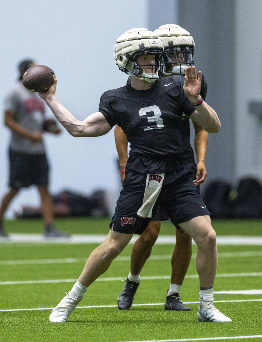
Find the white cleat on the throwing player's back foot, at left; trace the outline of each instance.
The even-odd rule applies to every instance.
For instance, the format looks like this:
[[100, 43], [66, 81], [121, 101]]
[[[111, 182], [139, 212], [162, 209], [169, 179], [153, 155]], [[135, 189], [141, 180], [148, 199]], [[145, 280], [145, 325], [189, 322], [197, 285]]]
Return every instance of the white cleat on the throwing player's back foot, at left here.
[[83, 297], [70, 297], [67, 294], [49, 315], [50, 322], [66, 322], [67, 318]]

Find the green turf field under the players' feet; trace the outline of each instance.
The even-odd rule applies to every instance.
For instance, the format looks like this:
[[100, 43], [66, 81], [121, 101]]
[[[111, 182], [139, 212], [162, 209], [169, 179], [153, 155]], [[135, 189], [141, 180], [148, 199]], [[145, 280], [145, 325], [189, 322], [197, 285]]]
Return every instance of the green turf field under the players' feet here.
[[[74, 234], [106, 234], [108, 223], [107, 219], [86, 218], [56, 222], [57, 227]], [[261, 220], [213, 221], [213, 227], [218, 236], [262, 236]], [[42, 223], [40, 220], [6, 221], [5, 228], [9, 233], [41, 233]], [[163, 223], [161, 234], [174, 234], [169, 222]], [[51, 308], [64, 297], [63, 291], [71, 289], [84, 260], [96, 246], [0, 243], [0, 341], [214, 341], [222, 337], [238, 337], [233, 341], [262, 341], [260, 245], [218, 246], [214, 291], [260, 290], [260, 294], [214, 294], [215, 305], [232, 323], [197, 322], [199, 285], [195, 245], [180, 293], [192, 311], [163, 310], [170, 284], [173, 245], [154, 246], [152, 257], [142, 270], [133, 306], [127, 311], [118, 310], [116, 300], [123, 287], [120, 279], [129, 273], [132, 245], [128, 245], [108, 271], [90, 286], [68, 321], [50, 323]]]

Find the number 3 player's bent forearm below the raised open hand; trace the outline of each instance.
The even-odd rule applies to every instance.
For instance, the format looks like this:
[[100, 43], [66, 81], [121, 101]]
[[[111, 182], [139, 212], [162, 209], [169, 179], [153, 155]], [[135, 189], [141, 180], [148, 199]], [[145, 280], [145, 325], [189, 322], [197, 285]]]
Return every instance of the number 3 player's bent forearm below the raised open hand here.
[[200, 106], [196, 107], [195, 112], [190, 116], [199, 126], [208, 133], [217, 133], [220, 130], [220, 121], [217, 113], [204, 100]]

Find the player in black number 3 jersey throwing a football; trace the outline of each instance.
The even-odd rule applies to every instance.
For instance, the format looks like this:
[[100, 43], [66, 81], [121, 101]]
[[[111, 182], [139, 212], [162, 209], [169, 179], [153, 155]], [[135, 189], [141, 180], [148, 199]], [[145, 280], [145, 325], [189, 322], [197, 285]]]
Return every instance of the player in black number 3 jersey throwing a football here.
[[220, 121], [199, 95], [201, 71], [197, 78], [193, 66], [186, 68], [185, 80], [180, 75], [161, 79], [162, 55], [162, 41], [145, 28], [134, 28], [121, 35], [114, 45], [114, 58], [119, 69], [132, 76], [131, 85], [106, 91], [101, 96], [99, 111], [83, 121], [58, 101], [55, 76], [49, 90], [39, 93], [71, 135], [100, 136], [118, 124], [131, 146], [125, 183], [109, 233], [91, 253], [73, 288], [51, 312], [51, 322], [67, 320], [88, 286], [108, 269], [133, 234], [143, 233], [159, 205], [174, 225], [179, 224], [196, 241], [198, 320], [231, 321], [213, 305], [216, 234], [210, 213], [191, 181], [191, 168], [184, 166], [181, 141], [183, 113], [209, 133], [219, 131]]

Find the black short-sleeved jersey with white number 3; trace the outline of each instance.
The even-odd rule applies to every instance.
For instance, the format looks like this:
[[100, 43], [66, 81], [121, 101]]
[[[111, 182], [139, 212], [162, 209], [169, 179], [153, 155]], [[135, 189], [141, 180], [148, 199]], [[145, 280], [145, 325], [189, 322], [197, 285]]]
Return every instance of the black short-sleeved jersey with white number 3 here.
[[196, 109], [183, 90], [184, 77], [160, 78], [147, 90], [130, 85], [106, 91], [99, 111], [111, 127], [122, 128], [130, 142], [127, 168], [162, 173], [184, 165], [182, 115]]

